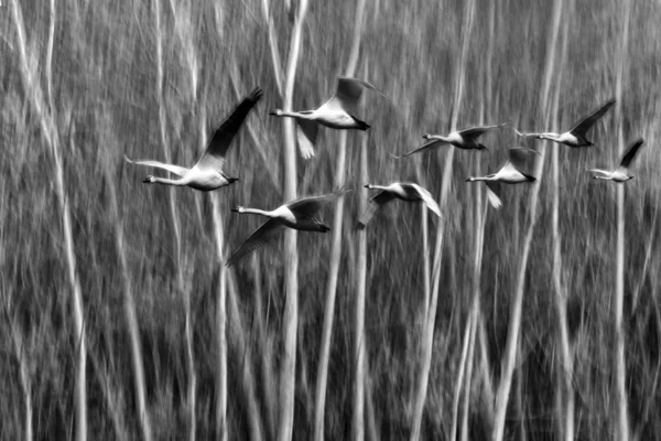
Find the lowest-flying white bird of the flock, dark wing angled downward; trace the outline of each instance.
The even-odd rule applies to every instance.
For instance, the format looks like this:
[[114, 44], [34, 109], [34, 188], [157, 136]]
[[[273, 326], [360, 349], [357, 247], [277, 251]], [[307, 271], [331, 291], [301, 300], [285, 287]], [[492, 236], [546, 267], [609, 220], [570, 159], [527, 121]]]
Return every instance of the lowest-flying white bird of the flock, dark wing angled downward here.
[[243, 208], [242, 206], [232, 208], [231, 211], [236, 213], [260, 214], [269, 217], [269, 220], [263, 223], [254, 230], [254, 233], [243, 240], [225, 265], [228, 267], [232, 266], [245, 256], [273, 240], [284, 228], [321, 233], [330, 230], [330, 228], [317, 219], [315, 215], [324, 205], [335, 201], [344, 193], [346, 192], [337, 191], [321, 196], [303, 197], [289, 202], [272, 211]]

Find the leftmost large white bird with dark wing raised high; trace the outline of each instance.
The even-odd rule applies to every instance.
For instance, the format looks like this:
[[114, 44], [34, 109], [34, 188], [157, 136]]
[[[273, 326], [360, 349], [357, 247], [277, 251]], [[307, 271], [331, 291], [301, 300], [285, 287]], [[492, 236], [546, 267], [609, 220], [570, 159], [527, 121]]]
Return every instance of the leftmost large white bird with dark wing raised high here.
[[225, 154], [231, 143], [232, 138], [243, 123], [243, 120], [254, 107], [257, 101], [262, 97], [262, 90], [256, 87], [237, 106], [232, 114], [218, 127], [214, 137], [209, 141], [206, 151], [193, 169], [186, 169], [180, 165], [165, 164], [159, 161], [141, 160], [131, 161], [124, 155], [124, 159], [131, 164], [154, 166], [158, 169], [167, 170], [171, 173], [181, 176], [178, 180], [165, 178], [156, 178], [149, 175], [144, 179], [148, 184], [165, 184], [176, 186], [189, 186], [195, 190], [205, 192], [220, 189], [221, 186], [230, 185], [238, 181], [238, 178], [229, 178], [223, 172], [225, 164]]

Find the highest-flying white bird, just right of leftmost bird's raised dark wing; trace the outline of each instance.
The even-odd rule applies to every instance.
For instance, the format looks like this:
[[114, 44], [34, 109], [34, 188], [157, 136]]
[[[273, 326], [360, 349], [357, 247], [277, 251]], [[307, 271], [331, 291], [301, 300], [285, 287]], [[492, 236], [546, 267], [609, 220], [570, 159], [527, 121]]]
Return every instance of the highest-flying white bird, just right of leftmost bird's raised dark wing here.
[[304, 159], [310, 159], [314, 157], [314, 144], [317, 138], [318, 125], [339, 130], [369, 129], [370, 126], [367, 122], [356, 117], [356, 107], [358, 106], [360, 95], [362, 95], [362, 89], [381, 93], [377, 87], [362, 79], [340, 76], [337, 79], [335, 95], [318, 109], [302, 111], [275, 109], [270, 115], [290, 117], [297, 120], [296, 139], [299, 141], [299, 149]]

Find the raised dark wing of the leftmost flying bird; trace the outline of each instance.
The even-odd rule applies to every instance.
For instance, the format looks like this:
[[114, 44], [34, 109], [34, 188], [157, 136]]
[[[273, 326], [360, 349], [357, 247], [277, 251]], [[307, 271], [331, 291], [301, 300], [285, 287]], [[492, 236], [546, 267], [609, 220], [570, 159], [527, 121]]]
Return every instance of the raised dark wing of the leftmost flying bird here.
[[201, 169], [223, 169], [225, 162], [225, 153], [229, 149], [229, 144], [243, 123], [243, 120], [254, 107], [257, 101], [262, 97], [262, 89], [256, 87], [237, 106], [231, 115], [216, 129], [206, 151], [197, 162]]

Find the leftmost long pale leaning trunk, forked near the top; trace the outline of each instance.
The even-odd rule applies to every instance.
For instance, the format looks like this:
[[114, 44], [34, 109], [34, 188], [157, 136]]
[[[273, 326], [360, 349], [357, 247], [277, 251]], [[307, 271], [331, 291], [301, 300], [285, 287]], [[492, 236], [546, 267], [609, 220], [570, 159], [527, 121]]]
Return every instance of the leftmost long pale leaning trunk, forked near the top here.
[[[46, 54], [46, 87], [47, 103], [44, 100], [43, 90], [39, 84], [36, 63], [29, 62], [26, 53], [28, 45], [25, 40], [25, 28], [23, 15], [19, 9], [17, 0], [12, 0], [12, 19], [17, 28], [17, 45], [20, 58], [21, 80], [25, 90], [25, 98], [32, 101], [34, 112], [39, 118], [42, 135], [51, 150], [54, 168], [54, 187], [57, 196], [59, 217], [62, 222], [62, 233], [64, 235], [65, 261], [67, 267], [68, 283], [72, 293], [73, 315], [74, 315], [74, 345], [76, 347], [76, 387], [75, 387], [75, 433], [77, 441], [87, 439], [87, 343], [85, 338], [85, 319], [83, 308], [83, 290], [78, 278], [76, 263], [76, 252], [74, 245], [74, 235], [72, 228], [72, 215], [68, 195], [64, 186], [64, 165], [62, 160], [62, 149], [59, 135], [55, 122], [53, 97], [52, 97], [52, 53], [55, 36], [55, 4], [51, 0], [50, 10], [50, 30]], [[35, 47], [35, 46], [32, 46]], [[30, 60], [39, 60], [36, 54], [30, 54]]]

